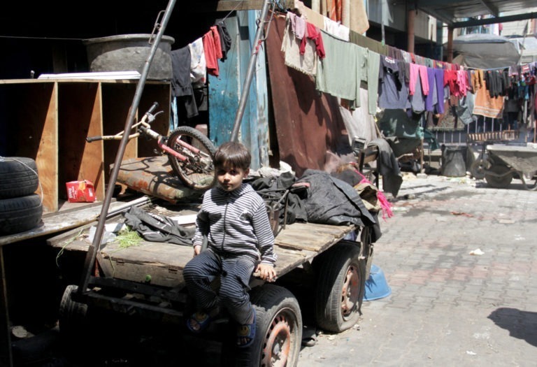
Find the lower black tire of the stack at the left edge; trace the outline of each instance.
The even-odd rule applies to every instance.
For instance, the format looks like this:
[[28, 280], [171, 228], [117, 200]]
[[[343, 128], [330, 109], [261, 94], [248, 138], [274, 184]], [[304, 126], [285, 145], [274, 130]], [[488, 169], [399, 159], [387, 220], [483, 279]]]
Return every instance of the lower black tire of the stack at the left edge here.
[[38, 226], [43, 203], [37, 194], [0, 199], [0, 234], [19, 233]]

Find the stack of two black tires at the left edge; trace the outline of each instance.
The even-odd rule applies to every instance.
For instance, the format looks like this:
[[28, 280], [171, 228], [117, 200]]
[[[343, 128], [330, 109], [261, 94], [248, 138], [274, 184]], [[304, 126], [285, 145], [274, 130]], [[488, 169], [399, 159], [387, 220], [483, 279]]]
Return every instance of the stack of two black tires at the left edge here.
[[38, 185], [34, 159], [0, 157], [0, 236], [28, 231], [40, 224], [43, 202], [35, 194]]

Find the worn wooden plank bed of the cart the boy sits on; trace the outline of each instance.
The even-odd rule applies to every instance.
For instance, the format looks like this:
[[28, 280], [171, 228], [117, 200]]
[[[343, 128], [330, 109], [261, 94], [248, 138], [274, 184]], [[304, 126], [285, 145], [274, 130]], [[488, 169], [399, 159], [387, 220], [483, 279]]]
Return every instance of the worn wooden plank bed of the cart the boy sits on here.
[[[83, 233], [80, 229], [74, 229], [47, 242], [64, 251], [87, 251], [92, 245], [87, 236], [89, 227], [90, 225], [87, 225]], [[355, 226], [313, 223], [287, 225], [275, 241], [278, 276], [285, 275], [297, 266], [311, 261], [353, 229]], [[193, 254], [190, 246], [143, 240], [139, 245], [127, 248], [120, 247], [118, 243], [107, 243], [101, 247], [98, 260], [103, 275], [151, 285], [182, 288], [184, 287], [182, 269], [192, 259]]]

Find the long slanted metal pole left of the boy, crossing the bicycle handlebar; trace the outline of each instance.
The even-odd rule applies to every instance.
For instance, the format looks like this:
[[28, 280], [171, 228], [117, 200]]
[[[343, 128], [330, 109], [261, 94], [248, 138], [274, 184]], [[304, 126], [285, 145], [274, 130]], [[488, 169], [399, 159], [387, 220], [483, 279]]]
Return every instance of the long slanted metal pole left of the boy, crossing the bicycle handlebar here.
[[[162, 23], [158, 24], [157, 23], [158, 19], [157, 19], [157, 22], [155, 22], [155, 28], [158, 28], [157, 36], [155, 36], [155, 39], [152, 41], [148, 58], [145, 60], [142, 73], [140, 75], [140, 80], [138, 81], [138, 85], [136, 85], [136, 92], [134, 92], [134, 98], [131, 104], [131, 108], [129, 110], [129, 116], [127, 117], [127, 121], [125, 122], [125, 127], [124, 127], [125, 134], [123, 134], [123, 138], [121, 139], [121, 142], [120, 142], [120, 147], [118, 148], [117, 154], [115, 155], [114, 166], [112, 168], [112, 172], [110, 173], [110, 179], [108, 180], [108, 190], [106, 190], [106, 195], [103, 201], [103, 206], [101, 208], [101, 215], [99, 216], [99, 222], [97, 222], [95, 236], [93, 238], [93, 243], [92, 243], [92, 246], [90, 246], [87, 250], [86, 259], [84, 263], [85, 274], [83, 275], [83, 278], [80, 280], [80, 287], [78, 287], [79, 294], [81, 294], [82, 292], [85, 292], [85, 289], [87, 289], [87, 285], [89, 284], [91, 273], [94, 270], [96, 256], [97, 256], [97, 253], [99, 252], [99, 247], [101, 246], [101, 240], [103, 237], [103, 228], [106, 222], [108, 208], [110, 207], [110, 202], [112, 201], [112, 196], [114, 192], [113, 188], [115, 187], [117, 174], [120, 171], [120, 165], [121, 165], [121, 161], [123, 160], [123, 154], [125, 152], [125, 148], [127, 147], [127, 143], [129, 143], [129, 131], [131, 131], [131, 127], [134, 122], [134, 117], [136, 116], [136, 110], [138, 109], [138, 104], [140, 103], [141, 95], [143, 92], [143, 87], [145, 86], [145, 80], [147, 80], [148, 78], [148, 73], [149, 73], [149, 68], [151, 66], [151, 62], [153, 60], [153, 57], [155, 57], [155, 52], [157, 52], [157, 48], [159, 47], [160, 40], [162, 38], [162, 35], [164, 34], [164, 30], [166, 29], [166, 24], [168, 24], [168, 21], [171, 17], [171, 12], [173, 10], [173, 6], [175, 5], [175, 3], [176, 3], [176, 0], [170, 0], [168, 3], [168, 6], [166, 7], [166, 11], [164, 12]], [[160, 16], [160, 13], [159, 13], [159, 16]]]

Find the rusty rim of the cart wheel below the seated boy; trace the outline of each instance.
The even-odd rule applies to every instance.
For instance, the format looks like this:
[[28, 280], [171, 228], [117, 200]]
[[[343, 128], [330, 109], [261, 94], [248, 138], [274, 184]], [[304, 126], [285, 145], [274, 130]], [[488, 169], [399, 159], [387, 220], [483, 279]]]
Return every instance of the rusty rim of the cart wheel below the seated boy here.
[[282, 310], [271, 322], [263, 343], [261, 366], [283, 367], [291, 350], [292, 315]]

